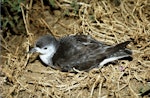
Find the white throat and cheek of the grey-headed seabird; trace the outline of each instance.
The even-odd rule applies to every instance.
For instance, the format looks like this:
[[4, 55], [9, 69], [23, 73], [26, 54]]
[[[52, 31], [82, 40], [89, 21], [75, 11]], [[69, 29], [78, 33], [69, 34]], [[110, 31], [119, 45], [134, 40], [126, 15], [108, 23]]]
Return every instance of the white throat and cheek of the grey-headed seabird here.
[[55, 46], [54, 45], [50, 45], [46, 54], [39, 55], [40, 59], [46, 65], [52, 66], [53, 65], [52, 57], [54, 56], [55, 52], [56, 52]]

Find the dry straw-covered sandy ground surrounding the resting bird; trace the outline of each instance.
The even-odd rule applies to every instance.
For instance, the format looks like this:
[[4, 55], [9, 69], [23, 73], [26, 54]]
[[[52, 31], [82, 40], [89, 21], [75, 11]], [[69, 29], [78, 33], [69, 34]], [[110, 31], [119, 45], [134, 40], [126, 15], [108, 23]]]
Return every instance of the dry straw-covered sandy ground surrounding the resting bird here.
[[[120, 1], [120, 4], [117, 3]], [[74, 4], [74, 5], [72, 5]], [[27, 34], [1, 37], [0, 96], [5, 98], [139, 98], [150, 91], [149, 0], [43, 0], [21, 4]], [[133, 60], [89, 72], [66, 73], [45, 67], [29, 46], [44, 34], [56, 38], [91, 35], [107, 44], [133, 40]], [[32, 60], [33, 59], [33, 60]]]

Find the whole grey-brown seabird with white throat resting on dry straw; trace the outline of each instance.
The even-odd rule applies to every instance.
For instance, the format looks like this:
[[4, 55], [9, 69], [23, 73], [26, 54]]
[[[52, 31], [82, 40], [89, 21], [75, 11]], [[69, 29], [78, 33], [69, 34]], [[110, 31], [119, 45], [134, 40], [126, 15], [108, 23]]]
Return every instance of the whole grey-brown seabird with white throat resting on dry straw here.
[[88, 71], [92, 68], [131, 57], [126, 46], [130, 41], [106, 45], [86, 35], [71, 35], [59, 40], [51, 35], [40, 37], [29, 53], [39, 52], [43, 63], [54, 69], [72, 72], [73, 69]]

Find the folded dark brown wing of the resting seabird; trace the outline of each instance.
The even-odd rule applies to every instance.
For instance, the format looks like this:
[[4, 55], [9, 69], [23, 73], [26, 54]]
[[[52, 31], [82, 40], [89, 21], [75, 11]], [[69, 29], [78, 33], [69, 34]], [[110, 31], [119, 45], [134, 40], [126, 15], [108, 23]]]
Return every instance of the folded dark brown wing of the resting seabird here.
[[104, 45], [89, 36], [76, 35], [60, 40], [60, 46], [53, 57], [53, 65], [62, 71], [90, 69], [105, 59]]

